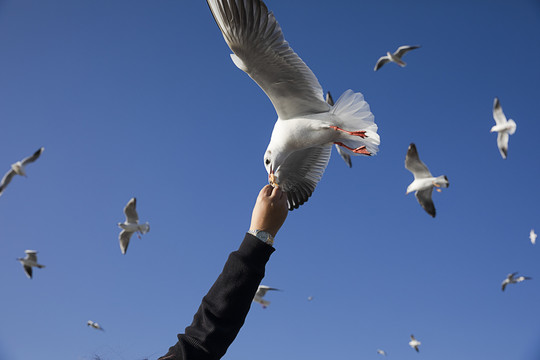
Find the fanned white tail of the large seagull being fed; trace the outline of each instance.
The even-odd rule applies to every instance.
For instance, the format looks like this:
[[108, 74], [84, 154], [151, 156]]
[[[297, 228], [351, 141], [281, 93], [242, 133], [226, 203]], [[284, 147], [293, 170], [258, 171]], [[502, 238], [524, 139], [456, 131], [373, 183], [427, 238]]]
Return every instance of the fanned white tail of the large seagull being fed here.
[[369, 109], [369, 104], [364, 100], [362, 93], [355, 93], [352, 90], [345, 91], [336, 101], [331, 112], [338, 117], [337, 125], [340, 128], [349, 131], [366, 132], [365, 138], [340, 132], [338, 141], [353, 148], [365, 146], [372, 155], [379, 151], [381, 139], [377, 134], [378, 127], [375, 124], [375, 117]]

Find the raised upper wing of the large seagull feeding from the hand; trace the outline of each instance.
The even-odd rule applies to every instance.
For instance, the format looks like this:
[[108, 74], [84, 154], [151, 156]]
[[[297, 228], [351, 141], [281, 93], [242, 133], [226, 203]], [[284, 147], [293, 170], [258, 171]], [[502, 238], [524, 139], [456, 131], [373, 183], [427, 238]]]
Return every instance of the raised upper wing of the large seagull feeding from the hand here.
[[326, 112], [319, 81], [285, 41], [261, 0], [207, 0], [235, 65], [268, 95], [280, 119]]

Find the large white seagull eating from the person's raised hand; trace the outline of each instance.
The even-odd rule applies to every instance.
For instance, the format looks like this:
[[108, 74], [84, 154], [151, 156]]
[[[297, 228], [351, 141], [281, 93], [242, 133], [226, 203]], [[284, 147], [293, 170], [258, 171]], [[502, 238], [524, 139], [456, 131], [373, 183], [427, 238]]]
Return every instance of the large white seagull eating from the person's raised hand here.
[[284, 39], [261, 0], [207, 0], [232, 61], [266, 93], [278, 119], [264, 165], [269, 183], [287, 193], [289, 210], [308, 201], [330, 159], [332, 144], [373, 155], [377, 125], [361, 93], [347, 90], [334, 106], [319, 81]]

